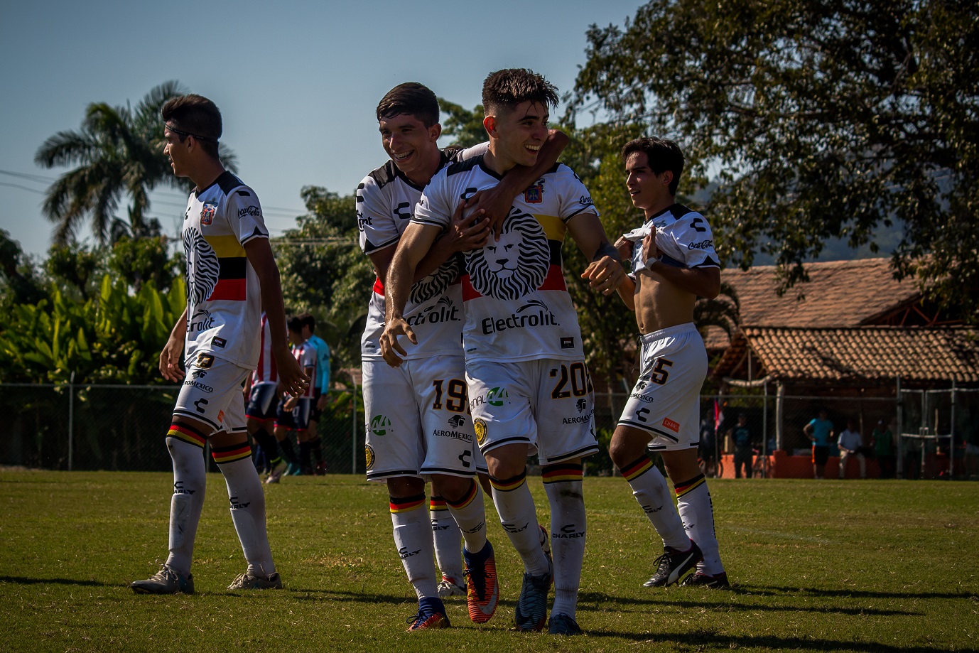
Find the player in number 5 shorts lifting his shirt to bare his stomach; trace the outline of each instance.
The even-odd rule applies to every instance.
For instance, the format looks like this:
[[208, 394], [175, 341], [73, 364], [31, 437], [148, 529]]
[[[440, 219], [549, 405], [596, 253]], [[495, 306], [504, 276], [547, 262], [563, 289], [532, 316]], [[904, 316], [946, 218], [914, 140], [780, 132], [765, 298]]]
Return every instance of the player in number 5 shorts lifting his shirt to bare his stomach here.
[[[610, 257], [592, 263], [582, 275], [606, 295], [618, 291], [635, 311], [642, 334], [641, 371], [609, 454], [663, 538], [664, 553], [646, 586], [676, 583], [696, 566], [683, 584], [722, 587], [728, 583], [714, 534], [711, 494], [697, 463], [707, 351], [693, 324], [697, 297], [718, 296], [721, 268], [707, 220], [676, 204], [683, 171], [676, 143], [636, 139], [626, 144], [622, 157], [632, 205], [645, 214], [642, 227], [616, 242], [620, 254], [631, 257], [632, 271], [617, 283], [621, 263]], [[646, 454], [647, 445], [663, 456], [678, 512], [663, 475]]]

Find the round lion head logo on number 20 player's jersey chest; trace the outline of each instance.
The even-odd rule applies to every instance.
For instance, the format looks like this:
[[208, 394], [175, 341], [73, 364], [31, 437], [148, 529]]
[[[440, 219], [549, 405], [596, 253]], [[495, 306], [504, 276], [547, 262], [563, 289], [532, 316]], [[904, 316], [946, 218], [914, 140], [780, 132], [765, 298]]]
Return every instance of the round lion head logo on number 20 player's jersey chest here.
[[469, 281], [480, 295], [514, 301], [536, 291], [547, 276], [550, 247], [530, 213], [513, 210], [498, 241], [466, 253]]

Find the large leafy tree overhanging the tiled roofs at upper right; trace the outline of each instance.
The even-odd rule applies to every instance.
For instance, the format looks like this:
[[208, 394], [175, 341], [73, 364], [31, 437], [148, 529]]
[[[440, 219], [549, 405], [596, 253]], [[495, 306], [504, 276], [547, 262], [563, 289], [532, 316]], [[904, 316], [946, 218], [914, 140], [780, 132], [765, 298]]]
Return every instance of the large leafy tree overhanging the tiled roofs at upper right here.
[[877, 251], [897, 224], [896, 275], [979, 319], [974, 6], [653, 0], [587, 39], [572, 116], [602, 109], [676, 138], [695, 172], [720, 166], [725, 259], [769, 254], [784, 288], [828, 239]]

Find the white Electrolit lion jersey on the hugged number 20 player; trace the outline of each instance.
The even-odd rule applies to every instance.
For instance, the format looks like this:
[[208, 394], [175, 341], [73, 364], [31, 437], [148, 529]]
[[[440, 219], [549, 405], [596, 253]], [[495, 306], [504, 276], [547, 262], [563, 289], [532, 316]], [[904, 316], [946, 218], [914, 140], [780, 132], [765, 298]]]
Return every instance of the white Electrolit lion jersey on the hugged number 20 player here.
[[[446, 227], [460, 198], [495, 186], [484, 157], [443, 168], [425, 188], [413, 221]], [[578, 313], [564, 284], [567, 222], [597, 213], [574, 171], [557, 163], [513, 202], [499, 241], [467, 252], [462, 276], [466, 360], [584, 357]]]

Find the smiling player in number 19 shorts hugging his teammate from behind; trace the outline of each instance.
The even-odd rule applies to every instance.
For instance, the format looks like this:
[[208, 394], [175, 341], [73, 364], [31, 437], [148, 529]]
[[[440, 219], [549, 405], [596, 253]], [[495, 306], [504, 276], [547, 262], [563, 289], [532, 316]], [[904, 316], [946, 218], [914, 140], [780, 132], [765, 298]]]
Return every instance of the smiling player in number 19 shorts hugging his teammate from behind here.
[[[522, 168], [502, 180], [493, 179], [495, 188], [483, 195], [483, 208], [474, 208], [478, 219], [435, 230], [422, 253], [424, 260], [407, 279], [410, 303], [404, 314], [418, 338], [405, 364], [393, 369], [382, 359], [379, 344], [386, 300], [382, 279], [422, 189], [436, 172], [464, 154], [439, 149], [439, 103], [422, 84], [403, 83], [389, 91], [377, 106], [377, 119], [391, 160], [364, 177], [356, 192], [360, 247], [377, 270], [361, 341], [367, 479], [388, 486], [396, 547], [418, 596], [418, 613], [409, 630], [448, 626], [441, 596], [463, 588], [470, 619], [484, 623], [495, 612], [498, 589], [493, 550], [486, 537], [483, 492], [474, 481], [478, 469], [485, 471], [485, 462], [474, 450], [466, 396], [456, 255], [487, 241], [493, 219], [506, 216], [513, 197], [539, 171]], [[566, 137], [552, 135], [552, 140], [557, 139]], [[563, 144], [553, 147], [549, 164], [561, 149]], [[436, 513], [439, 549], [435, 552], [443, 570], [442, 583], [437, 583], [433, 530], [425, 511], [426, 477], [432, 481], [430, 507]], [[446, 511], [440, 510], [443, 506]], [[444, 512], [450, 513], [457, 527], [439, 516]], [[464, 574], [458, 563], [458, 530], [465, 539]]]

